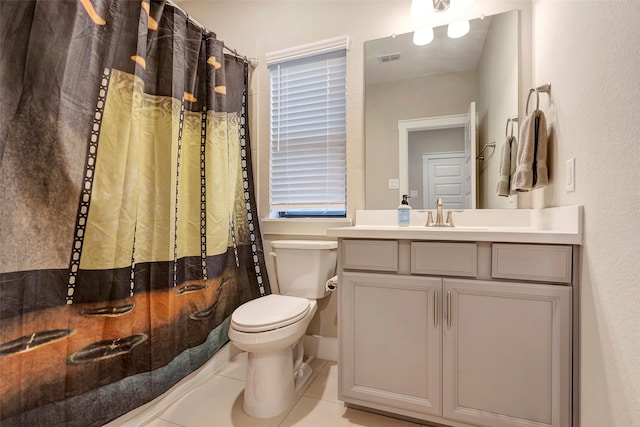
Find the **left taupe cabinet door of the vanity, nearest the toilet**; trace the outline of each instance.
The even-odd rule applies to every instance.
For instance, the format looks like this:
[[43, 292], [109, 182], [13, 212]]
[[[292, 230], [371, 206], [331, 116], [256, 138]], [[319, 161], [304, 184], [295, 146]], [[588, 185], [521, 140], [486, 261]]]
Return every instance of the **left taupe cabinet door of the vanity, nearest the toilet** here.
[[342, 274], [341, 399], [441, 413], [441, 289], [440, 278]]

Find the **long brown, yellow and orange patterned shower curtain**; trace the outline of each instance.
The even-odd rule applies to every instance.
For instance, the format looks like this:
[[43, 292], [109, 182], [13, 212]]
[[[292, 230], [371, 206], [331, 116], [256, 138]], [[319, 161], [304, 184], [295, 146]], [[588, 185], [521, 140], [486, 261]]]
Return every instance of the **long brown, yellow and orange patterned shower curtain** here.
[[0, 8], [0, 425], [99, 426], [270, 293], [248, 67], [164, 1]]

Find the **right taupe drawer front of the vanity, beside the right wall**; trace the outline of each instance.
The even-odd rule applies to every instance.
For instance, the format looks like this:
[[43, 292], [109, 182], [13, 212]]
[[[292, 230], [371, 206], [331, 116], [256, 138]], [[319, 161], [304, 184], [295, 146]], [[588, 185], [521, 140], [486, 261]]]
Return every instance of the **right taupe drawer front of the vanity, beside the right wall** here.
[[495, 243], [491, 275], [498, 279], [571, 283], [571, 246]]

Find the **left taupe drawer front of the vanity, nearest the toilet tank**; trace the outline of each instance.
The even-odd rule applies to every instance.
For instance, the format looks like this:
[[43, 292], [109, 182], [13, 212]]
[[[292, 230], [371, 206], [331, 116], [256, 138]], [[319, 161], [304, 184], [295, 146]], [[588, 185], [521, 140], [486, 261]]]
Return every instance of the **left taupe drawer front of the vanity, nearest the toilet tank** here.
[[398, 241], [345, 239], [342, 241], [342, 268], [398, 271]]

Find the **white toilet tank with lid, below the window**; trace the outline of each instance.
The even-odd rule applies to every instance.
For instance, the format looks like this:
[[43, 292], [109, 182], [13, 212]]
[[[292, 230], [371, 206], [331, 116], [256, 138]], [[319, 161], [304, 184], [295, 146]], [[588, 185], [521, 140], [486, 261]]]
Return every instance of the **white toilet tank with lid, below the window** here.
[[278, 287], [282, 295], [327, 296], [326, 282], [336, 273], [338, 244], [328, 240], [273, 240]]

